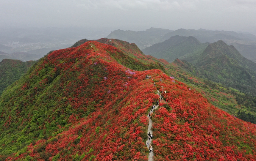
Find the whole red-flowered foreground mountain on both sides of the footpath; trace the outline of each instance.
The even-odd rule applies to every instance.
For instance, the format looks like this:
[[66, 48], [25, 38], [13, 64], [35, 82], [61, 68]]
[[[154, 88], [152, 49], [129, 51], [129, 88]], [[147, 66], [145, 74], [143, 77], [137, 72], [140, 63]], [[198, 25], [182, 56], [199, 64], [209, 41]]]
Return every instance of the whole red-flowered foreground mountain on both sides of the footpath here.
[[160, 86], [168, 103], [152, 115], [155, 160], [255, 158], [254, 124], [164, 74], [165, 61], [104, 43], [53, 51], [4, 91], [3, 160], [148, 160], [146, 116]]

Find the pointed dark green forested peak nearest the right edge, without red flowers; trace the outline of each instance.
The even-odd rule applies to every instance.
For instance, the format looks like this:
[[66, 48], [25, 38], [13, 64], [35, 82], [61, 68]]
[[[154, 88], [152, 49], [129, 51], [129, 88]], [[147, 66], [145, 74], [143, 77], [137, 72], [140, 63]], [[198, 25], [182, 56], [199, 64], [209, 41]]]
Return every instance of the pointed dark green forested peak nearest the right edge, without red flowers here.
[[199, 67], [202, 77], [256, 95], [256, 63], [223, 41], [210, 44], [192, 64]]

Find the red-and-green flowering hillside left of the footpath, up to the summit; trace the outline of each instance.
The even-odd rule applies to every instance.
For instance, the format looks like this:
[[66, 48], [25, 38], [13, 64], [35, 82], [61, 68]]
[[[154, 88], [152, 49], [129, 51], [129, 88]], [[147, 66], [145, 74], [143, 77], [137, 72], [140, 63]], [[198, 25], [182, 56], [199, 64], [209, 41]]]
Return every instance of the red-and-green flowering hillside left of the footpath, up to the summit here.
[[[77, 153], [146, 158], [146, 125], [140, 117], [157, 100], [155, 89], [143, 82], [149, 71], [118, 62], [151, 67], [95, 41], [42, 58], [1, 97], [1, 155], [11, 160], [28, 155], [47, 160], [57, 154], [71, 159]], [[116, 140], [120, 144], [113, 145]], [[104, 146], [113, 148], [110, 154], [102, 151]]]

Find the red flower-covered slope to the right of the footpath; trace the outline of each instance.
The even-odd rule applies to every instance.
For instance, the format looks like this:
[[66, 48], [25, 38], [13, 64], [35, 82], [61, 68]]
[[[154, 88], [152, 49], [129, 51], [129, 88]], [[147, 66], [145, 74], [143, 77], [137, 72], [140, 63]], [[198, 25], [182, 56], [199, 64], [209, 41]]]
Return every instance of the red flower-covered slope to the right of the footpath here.
[[184, 83], [162, 77], [157, 85], [165, 87], [167, 102], [152, 115], [156, 160], [255, 160], [255, 124], [219, 110]]

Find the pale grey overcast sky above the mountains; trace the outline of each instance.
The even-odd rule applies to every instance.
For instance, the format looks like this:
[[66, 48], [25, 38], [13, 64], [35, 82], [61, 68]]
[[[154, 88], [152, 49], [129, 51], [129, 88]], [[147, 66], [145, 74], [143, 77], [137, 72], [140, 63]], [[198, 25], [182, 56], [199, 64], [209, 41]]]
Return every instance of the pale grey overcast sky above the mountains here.
[[256, 31], [256, 0], [1, 0], [0, 25]]

